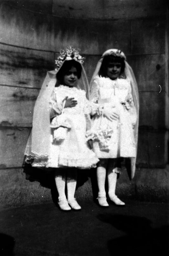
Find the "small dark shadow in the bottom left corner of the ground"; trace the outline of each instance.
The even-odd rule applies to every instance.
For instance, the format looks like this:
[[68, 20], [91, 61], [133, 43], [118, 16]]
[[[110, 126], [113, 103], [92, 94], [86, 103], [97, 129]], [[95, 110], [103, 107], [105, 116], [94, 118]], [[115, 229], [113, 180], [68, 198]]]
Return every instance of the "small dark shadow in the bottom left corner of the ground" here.
[[15, 239], [9, 235], [0, 233], [0, 255], [14, 256]]

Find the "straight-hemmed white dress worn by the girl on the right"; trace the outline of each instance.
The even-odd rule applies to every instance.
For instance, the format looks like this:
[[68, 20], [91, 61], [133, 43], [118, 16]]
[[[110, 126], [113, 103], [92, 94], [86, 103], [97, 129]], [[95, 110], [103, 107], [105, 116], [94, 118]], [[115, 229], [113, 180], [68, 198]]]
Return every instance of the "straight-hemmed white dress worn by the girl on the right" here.
[[[98, 158], [136, 157], [133, 127], [137, 120], [130, 81], [111, 80], [96, 76], [91, 87], [91, 99], [110, 113], [119, 115], [109, 121], [102, 114], [93, 116], [88, 138], [93, 138], [93, 150]], [[100, 111], [101, 112], [101, 111]]]

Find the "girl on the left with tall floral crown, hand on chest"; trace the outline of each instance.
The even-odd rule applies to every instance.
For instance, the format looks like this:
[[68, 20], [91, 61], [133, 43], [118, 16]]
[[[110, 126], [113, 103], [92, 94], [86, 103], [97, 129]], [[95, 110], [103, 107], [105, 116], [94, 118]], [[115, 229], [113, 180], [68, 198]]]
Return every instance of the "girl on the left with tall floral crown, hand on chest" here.
[[99, 161], [86, 142], [90, 114], [96, 113], [97, 104], [92, 110], [86, 98], [88, 80], [82, 62], [74, 48], [60, 51], [57, 69], [48, 72], [37, 98], [25, 150], [26, 162], [33, 167], [56, 168], [58, 205], [65, 211], [81, 209], [75, 199], [76, 168], [95, 167]]

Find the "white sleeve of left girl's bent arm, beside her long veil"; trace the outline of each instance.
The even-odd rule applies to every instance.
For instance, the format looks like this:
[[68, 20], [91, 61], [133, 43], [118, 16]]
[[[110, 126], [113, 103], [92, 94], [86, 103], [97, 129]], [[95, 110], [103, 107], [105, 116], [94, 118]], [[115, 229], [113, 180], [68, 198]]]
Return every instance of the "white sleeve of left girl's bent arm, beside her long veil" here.
[[63, 99], [60, 97], [59, 92], [55, 88], [52, 92], [49, 101], [50, 118], [60, 115], [63, 110]]

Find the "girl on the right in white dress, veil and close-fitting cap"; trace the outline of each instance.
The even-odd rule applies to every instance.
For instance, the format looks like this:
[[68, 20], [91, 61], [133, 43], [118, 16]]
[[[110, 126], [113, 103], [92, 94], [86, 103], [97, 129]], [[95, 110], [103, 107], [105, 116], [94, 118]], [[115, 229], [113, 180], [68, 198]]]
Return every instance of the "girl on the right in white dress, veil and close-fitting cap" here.
[[115, 195], [115, 187], [121, 157], [131, 159], [131, 178], [134, 176], [139, 97], [133, 71], [120, 50], [110, 49], [102, 55], [90, 82], [90, 100], [100, 104], [100, 111], [93, 116], [92, 129], [87, 132], [100, 159], [97, 164], [98, 203], [108, 206], [107, 171], [109, 199], [116, 205], [125, 205]]

